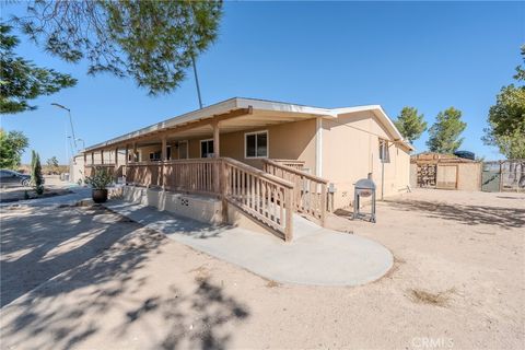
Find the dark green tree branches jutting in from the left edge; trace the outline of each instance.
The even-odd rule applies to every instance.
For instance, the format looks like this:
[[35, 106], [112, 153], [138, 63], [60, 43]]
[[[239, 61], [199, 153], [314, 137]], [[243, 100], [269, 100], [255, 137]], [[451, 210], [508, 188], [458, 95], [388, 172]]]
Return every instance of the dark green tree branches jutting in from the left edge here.
[[40, 68], [14, 54], [19, 39], [11, 26], [0, 23], [0, 113], [33, 110], [30, 101], [74, 86], [77, 80], [52, 69]]

